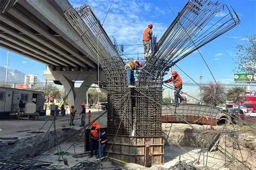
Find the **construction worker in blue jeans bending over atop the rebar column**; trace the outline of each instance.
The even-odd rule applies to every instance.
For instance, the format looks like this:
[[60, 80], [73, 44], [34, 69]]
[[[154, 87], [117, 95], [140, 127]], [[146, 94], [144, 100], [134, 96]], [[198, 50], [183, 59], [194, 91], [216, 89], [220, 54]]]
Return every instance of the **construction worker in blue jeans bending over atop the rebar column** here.
[[143, 62], [139, 62], [137, 60], [129, 61], [125, 65], [126, 73], [127, 73], [127, 84], [129, 88], [134, 88], [135, 79], [134, 79], [134, 70], [139, 67], [143, 67]]

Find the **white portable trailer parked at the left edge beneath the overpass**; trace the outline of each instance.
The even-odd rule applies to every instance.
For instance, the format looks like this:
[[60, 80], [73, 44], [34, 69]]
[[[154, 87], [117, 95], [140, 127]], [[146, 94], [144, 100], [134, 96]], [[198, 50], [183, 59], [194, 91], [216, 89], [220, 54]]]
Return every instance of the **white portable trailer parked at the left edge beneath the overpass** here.
[[36, 104], [36, 112], [44, 112], [44, 93], [42, 91], [0, 87], [0, 113], [19, 111], [19, 101]]

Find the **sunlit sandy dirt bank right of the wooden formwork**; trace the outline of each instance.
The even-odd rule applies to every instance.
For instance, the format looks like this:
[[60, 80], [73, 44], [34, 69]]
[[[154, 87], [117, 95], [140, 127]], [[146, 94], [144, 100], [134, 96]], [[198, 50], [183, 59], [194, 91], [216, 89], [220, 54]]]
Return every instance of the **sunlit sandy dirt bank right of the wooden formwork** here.
[[233, 126], [229, 124], [226, 128], [225, 125], [214, 126], [214, 130], [210, 130], [209, 125], [196, 124], [192, 126], [198, 131], [193, 130], [187, 124], [163, 123], [163, 132], [168, 134], [170, 131], [170, 138], [167, 140], [167, 144], [207, 148], [214, 143], [212, 139], [215, 139], [219, 134], [217, 152], [221, 155], [221, 160], [226, 160], [225, 167], [231, 169], [256, 168], [256, 131], [253, 129], [254, 126], [251, 128], [245, 125]]

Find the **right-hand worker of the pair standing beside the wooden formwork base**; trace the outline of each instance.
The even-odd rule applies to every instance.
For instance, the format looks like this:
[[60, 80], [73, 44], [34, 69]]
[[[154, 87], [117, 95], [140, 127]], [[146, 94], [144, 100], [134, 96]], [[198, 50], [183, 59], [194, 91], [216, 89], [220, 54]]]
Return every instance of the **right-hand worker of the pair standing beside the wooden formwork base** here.
[[99, 158], [100, 161], [104, 161], [104, 159], [101, 159], [101, 158], [104, 157], [104, 147], [106, 146], [106, 143], [107, 143], [106, 132], [102, 129], [102, 126], [100, 126], [99, 124], [96, 125], [95, 129], [98, 131], [97, 139], [100, 143], [98, 155], [96, 158]]

